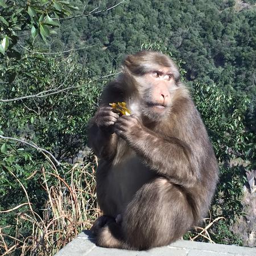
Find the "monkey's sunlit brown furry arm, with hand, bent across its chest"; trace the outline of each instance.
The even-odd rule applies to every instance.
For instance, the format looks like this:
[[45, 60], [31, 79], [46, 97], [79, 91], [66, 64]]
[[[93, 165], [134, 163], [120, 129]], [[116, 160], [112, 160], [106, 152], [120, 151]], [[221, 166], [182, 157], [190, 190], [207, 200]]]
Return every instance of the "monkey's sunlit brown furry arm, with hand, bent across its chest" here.
[[119, 118], [115, 133], [158, 175], [177, 184], [193, 184], [199, 178], [191, 147], [178, 138], [164, 137], [144, 127], [136, 117]]

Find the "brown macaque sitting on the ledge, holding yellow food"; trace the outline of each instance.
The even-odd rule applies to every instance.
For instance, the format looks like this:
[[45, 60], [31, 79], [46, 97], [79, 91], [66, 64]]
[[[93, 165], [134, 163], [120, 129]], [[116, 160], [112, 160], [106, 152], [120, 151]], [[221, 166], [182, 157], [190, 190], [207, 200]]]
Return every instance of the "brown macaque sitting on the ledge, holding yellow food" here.
[[[126, 102], [131, 115], [109, 104]], [[218, 166], [207, 131], [175, 63], [158, 52], [128, 55], [101, 95], [89, 126], [100, 158], [97, 198], [104, 215], [96, 244], [130, 250], [168, 245], [209, 209]]]

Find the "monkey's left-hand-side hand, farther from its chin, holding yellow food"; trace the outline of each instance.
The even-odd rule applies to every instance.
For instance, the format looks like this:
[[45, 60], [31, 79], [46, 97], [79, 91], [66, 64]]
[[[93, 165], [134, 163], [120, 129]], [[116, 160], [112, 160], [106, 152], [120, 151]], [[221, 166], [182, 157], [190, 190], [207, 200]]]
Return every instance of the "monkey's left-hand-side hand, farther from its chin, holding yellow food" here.
[[95, 114], [95, 122], [100, 129], [114, 133], [113, 125], [119, 118], [116, 113], [117, 110], [110, 106], [105, 106], [100, 109]]

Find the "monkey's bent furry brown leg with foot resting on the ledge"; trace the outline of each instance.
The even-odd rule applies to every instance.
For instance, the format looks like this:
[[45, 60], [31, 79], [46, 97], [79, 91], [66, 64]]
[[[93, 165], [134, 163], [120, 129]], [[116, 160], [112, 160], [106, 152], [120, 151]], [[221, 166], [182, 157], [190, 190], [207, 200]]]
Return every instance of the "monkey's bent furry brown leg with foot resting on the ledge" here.
[[183, 191], [158, 177], [137, 191], [122, 225], [111, 223], [100, 230], [97, 245], [147, 250], [174, 242], [192, 225], [192, 208]]

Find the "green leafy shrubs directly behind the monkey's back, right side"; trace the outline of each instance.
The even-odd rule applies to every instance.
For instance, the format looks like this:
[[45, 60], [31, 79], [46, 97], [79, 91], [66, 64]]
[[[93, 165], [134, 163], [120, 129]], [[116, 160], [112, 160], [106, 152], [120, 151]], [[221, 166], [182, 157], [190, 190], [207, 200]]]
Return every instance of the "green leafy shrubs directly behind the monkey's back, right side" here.
[[[220, 166], [220, 180], [214, 196], [211, 217], [224, 217], [208, 232], [214, 242], [242, 245], [238, 234], [230, 231], [229, 226], [243, 216], [241, 203], [243, 186], [246, 183], [245, 171], [250, 170], [253, 162], [253, 134], [245, 130], [243, 123], [250, 104], [246, 95], [234, 90], [224, 92], [216, 85], [196, 84], [193, 98], [207, 126], [210, 139]], [[240, 164], [234, 163], [234, 159]], [[200, 241], [204, 240], [200, 237]]]

